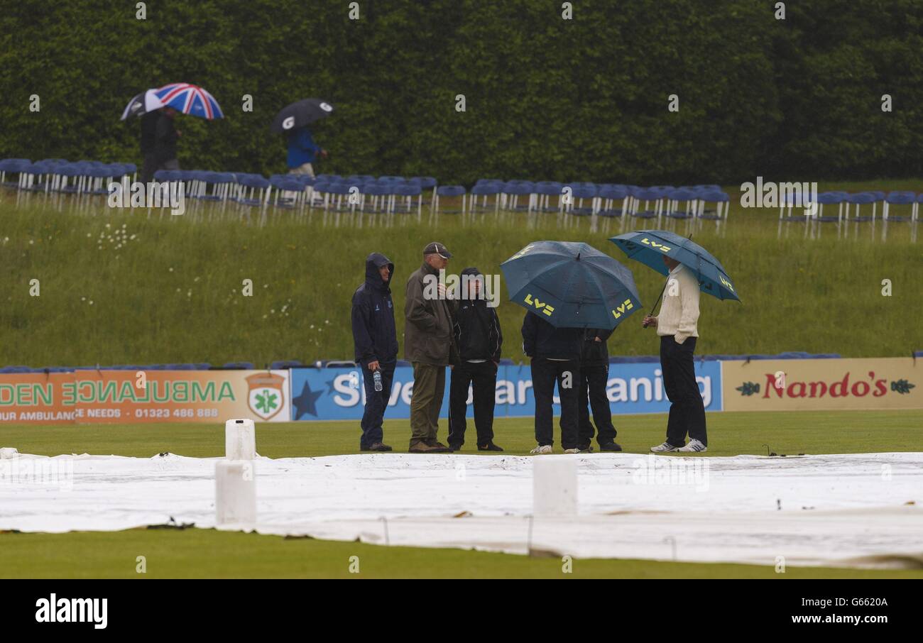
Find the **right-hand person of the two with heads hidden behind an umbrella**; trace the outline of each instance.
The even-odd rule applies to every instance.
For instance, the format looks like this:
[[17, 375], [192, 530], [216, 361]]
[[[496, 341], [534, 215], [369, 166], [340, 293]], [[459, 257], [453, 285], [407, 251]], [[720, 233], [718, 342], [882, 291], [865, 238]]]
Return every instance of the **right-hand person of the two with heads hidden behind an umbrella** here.
[[[612, 409], [605, 385], [609, 380], [609, 351], [605, 345], [612, 330], [587, 328], [583, 337], [580, 366], [580, 421], [579, 447], [581, 451], [592, 452], [593, 423], [596, 423], [596, 442], [600, 451], [621, 451], [616, 442], [616, 427], [612, 424]], [[593, 423], [590, 422], [590, 408], [593, 409]]]

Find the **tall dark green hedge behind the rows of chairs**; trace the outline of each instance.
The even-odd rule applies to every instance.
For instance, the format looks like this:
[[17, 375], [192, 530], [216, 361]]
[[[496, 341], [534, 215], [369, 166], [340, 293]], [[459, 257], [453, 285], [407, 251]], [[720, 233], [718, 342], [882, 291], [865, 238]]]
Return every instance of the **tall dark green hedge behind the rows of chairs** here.
[[[333, 101], [322, 170], [630, 183], [923, 172], [918, 0], [6, 3], [0, 156], [139, 162], [131, 96], [183, 80], [184, 167], [285, 169], [273, 115]], [[455, 111], [464, 94], [467, 111]], [[881, 94], [893, 113], [881, 112]], [[40, 113], [28, 110], [39, 94]], [[254, 111], [242, 111], [242, 96]], [[679, 113], [666, 110], [679, 96]]]

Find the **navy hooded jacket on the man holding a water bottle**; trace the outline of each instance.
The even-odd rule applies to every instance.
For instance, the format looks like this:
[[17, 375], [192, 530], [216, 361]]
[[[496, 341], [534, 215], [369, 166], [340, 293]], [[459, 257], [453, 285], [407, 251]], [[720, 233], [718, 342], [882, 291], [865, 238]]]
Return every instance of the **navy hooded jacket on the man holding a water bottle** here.
[[[390, 269], [388, 283], [378, 273], [382, 266]], [[397, 359], [398, 335], [389, 287], [393, 279], [394, 264], [387, 256], [374, 252], [366, 257], [366, 282], [353, 293], [355, 361], [363, 366]]]

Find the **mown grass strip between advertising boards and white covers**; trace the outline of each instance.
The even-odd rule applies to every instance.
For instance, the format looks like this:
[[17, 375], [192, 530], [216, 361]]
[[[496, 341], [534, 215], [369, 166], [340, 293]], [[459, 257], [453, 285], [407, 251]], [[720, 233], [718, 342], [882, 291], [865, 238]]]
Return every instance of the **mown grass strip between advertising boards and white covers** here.
[[[617, 440], [629, 453], [647, 453], [664, 441], [663, 413], [616, 415]], [[766, 455], [773, 452], [870, 453], [918, 451], [923, 411], [760, 411], [708, 414], [709, 456]], [[445, 441], [445, 422], [439, 438]], [[462, 453], [477, 454], [471, 439]], [[497, 418], [497, 444], [507, 454], [525, 455], [535, 446], [532, 418]], [[258, 423], [257, 450], [268, 458], [311, 458], [359, 453], [358, 422]], [[557, 435], [557, 429], [556, 429]], [[405, 451], [407, 420], [385, 422], [385, 442]], [[193, 458], [224, 455], [222, 423], [0, 424], [0, 447], [20, 453], [70, 453], [150, 458], [164, 451]], [[559, 447], [558, 451], [560, 450]], [[492, 457], [490, 454], [482, 454]], [[682, 457], [682, 456], [678, 456]]]

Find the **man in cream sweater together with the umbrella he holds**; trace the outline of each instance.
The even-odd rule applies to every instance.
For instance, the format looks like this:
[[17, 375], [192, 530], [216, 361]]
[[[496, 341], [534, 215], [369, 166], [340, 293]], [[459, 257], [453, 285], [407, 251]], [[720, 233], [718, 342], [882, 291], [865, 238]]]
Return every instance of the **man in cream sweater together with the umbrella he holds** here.
[[699, 337], [699, 293], [740, 301], [734, 284], [721, 262], [701, 245], [674, 232], [642, 230], [619, 234], [609, 241], [632, 259], [666, 277], [660, 315], [645, 316], [642, 323], [645, 328], [656, 327], [660, 336], [660, 364], [666, 397], [671, 402], [666, 440], [651, 450], [654, 453], [706, 451], [705, 406], [692, 358]]

